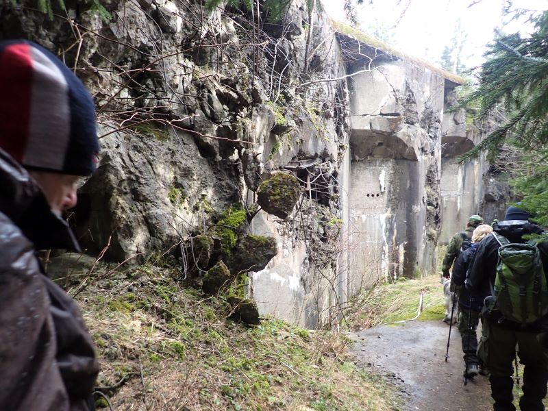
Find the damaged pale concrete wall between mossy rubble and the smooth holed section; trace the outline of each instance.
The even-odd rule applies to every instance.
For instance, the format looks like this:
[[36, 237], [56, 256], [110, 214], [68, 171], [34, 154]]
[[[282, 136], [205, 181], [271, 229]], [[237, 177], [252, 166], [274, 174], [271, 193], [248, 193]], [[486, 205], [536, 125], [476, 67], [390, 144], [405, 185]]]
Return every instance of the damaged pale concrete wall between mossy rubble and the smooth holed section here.
[[[297, 21], [301, 24], [303, 20], [299, 17]], [[325, 49], [319, 49], [318, 53], [322, 61], [327, 55], [325, 66], [330, 70], [316, 75], [321, 78], [343, 77], [346, 74], [346, 66], [340, 58], [342, 53], [332, 36], [332, 26], [327, 22], [326, 16], [321, 16], [319, 21], [315, 21], [314, 27], [314, 39]], [[295, 49], [306, 44], [295, 36], [291, 38]], [[303, 58], [299, 56], [295, 60], [300, 62]], [[280, 145], [275, 155], [271, 154], [272, 145], [256, 149], [262, 151], [266, 157], [265, 169], [288, 169], [297, 177], [302, 177], [305, 182], [307, 176], [310, 178], [308, 173], [314, 167], [291, 168], [290, 162], [299, 162], [301, 159], [305, 159], [303, 162], [319, 159], [326, 164], [330, 162], [330, 168], [336, 170], [337, 183], [334, 186], [337, 192], [333, 192], [334, 199], [329, 199], [329, 205], [322, 204], [323, 211], [319, 211], [321, 201], [317, 201], [314, 192], [309, 194], [305, 185], [303, 202], [299, 203], [297, 211], [284, 221], [263, 211], [253, 217], [251, 232], [277, 238], [278, 253], [265, 269], [251, 273], [249, 295], [256, 301], [261, 315], [275, 316], [303, 327], [316, 328], [329, 320], [336, 320], [340, 308], [347, 301], [348, 276], [344, 267], [348, 266], [348, 257], [340, 242], [340, 238], [343, 237], [337, 234], [334, 240], [326, 242], [319, 239], [321, 234], [325, 234], [325, 224], [322, 226], [319, 223], [319, 213], [331, 210], [335, 219], [345, 222], [349, 214], [349, 175], [346, 171], [349, 169], [349, 154], [347, 149], [341, 148], [348, 145], [347, 125], [342, 124], [347, 121], [347, 92], [344, 82], [319, 82], [314, 87], [308, 87], [306, 91], [309, 98], [316, 92], [316, 99], [323, 100], [338, 95], [341, 107], [329, 107], [329, 114], [334, 110], [342, 112], [338, 112], [334, 116], [335, 119], [327, 115], [323, 119], [316, 119], [318, 125], [308, 129], [308, 133], [303, 131], [300, 136], [286, 139], [286, 145]], [[330, 102], [326, 101], [325, 104], [328, 103]], [[290, 115], [290, 112], [286, 112], [286, 118]], [[299, 126], [293, 123], [293, 127], [303, 130], [302, 119], [299, 116], [295, 118], [295, 123]], [[327, 127], [321, 124], [324, 119], [328, 123]], [[316, 135], [317, 138], [314, 140], [307, 134]], [[310, 179], [315, 179], [314, 175]], [[345, 230], [345, 224], [340, 225], [340, 230]], [[322, 251], [323, 257], [320, 256]]]

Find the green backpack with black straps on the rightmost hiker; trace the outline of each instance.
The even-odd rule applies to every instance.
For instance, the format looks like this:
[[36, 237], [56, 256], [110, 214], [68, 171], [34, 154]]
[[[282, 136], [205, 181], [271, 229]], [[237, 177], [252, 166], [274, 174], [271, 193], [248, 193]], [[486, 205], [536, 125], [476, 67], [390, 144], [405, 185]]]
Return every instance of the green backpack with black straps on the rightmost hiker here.
[[534, 240], [526, 243], [509, 242], [493, 233], [499, 242], [499, 261], [493, 308], [516, 323], [534, 323], [548, 314], [548, 286], [540, 251]]

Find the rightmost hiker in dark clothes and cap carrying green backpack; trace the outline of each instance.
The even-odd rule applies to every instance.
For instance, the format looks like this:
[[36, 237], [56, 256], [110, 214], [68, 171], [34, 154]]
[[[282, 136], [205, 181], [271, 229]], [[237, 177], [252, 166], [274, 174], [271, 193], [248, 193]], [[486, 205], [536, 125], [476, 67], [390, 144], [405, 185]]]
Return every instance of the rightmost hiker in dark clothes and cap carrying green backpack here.
[[548, 384], [548, 242], [528, 240], [544, 230], [516, 207], [493, 223], [493, 234], [477, 247], [466, 288], [488, 295], [482, 310], [483, 330], [477, 354], [491, 375], [495, 411], [514, 411], [512, 388], [517, 356], [523, 364], [522, 411], [544, 410]]

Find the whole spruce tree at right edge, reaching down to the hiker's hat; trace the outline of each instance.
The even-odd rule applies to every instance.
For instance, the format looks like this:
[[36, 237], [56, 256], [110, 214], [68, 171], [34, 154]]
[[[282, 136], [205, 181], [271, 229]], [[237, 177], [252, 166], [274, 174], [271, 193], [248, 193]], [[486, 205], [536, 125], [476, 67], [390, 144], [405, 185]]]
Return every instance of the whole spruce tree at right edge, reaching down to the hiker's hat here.
[[512, 185], [522, 198], [520, 207], [548, 225], [548, 12], [534, 21], [531, 36], [499, 36], [490, 45], [479, 87], [460, 106], [476, 103], [480, 119], [502, 108], [506, 120], [461, 160], [483, 151], [495, 160], [505, 144], [519, 149], [525, 167], [516, 171]]

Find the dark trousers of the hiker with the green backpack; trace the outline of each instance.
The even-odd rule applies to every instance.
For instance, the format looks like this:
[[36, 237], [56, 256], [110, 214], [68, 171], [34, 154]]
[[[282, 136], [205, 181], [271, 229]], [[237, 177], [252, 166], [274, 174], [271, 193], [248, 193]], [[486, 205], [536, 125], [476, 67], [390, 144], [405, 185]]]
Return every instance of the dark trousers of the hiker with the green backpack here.
[[538, 333], [507, 329], [492, 321], [483, 321], [482, 338], [477, 354], [491, 372], [493, 410], [514, 411], [512, 362], [516, 356], [523, 365], [523, 395], [519, 400], [522, 411], [543, 411], [543, 399], [548, 384], [548, 353], [538, 341]]

